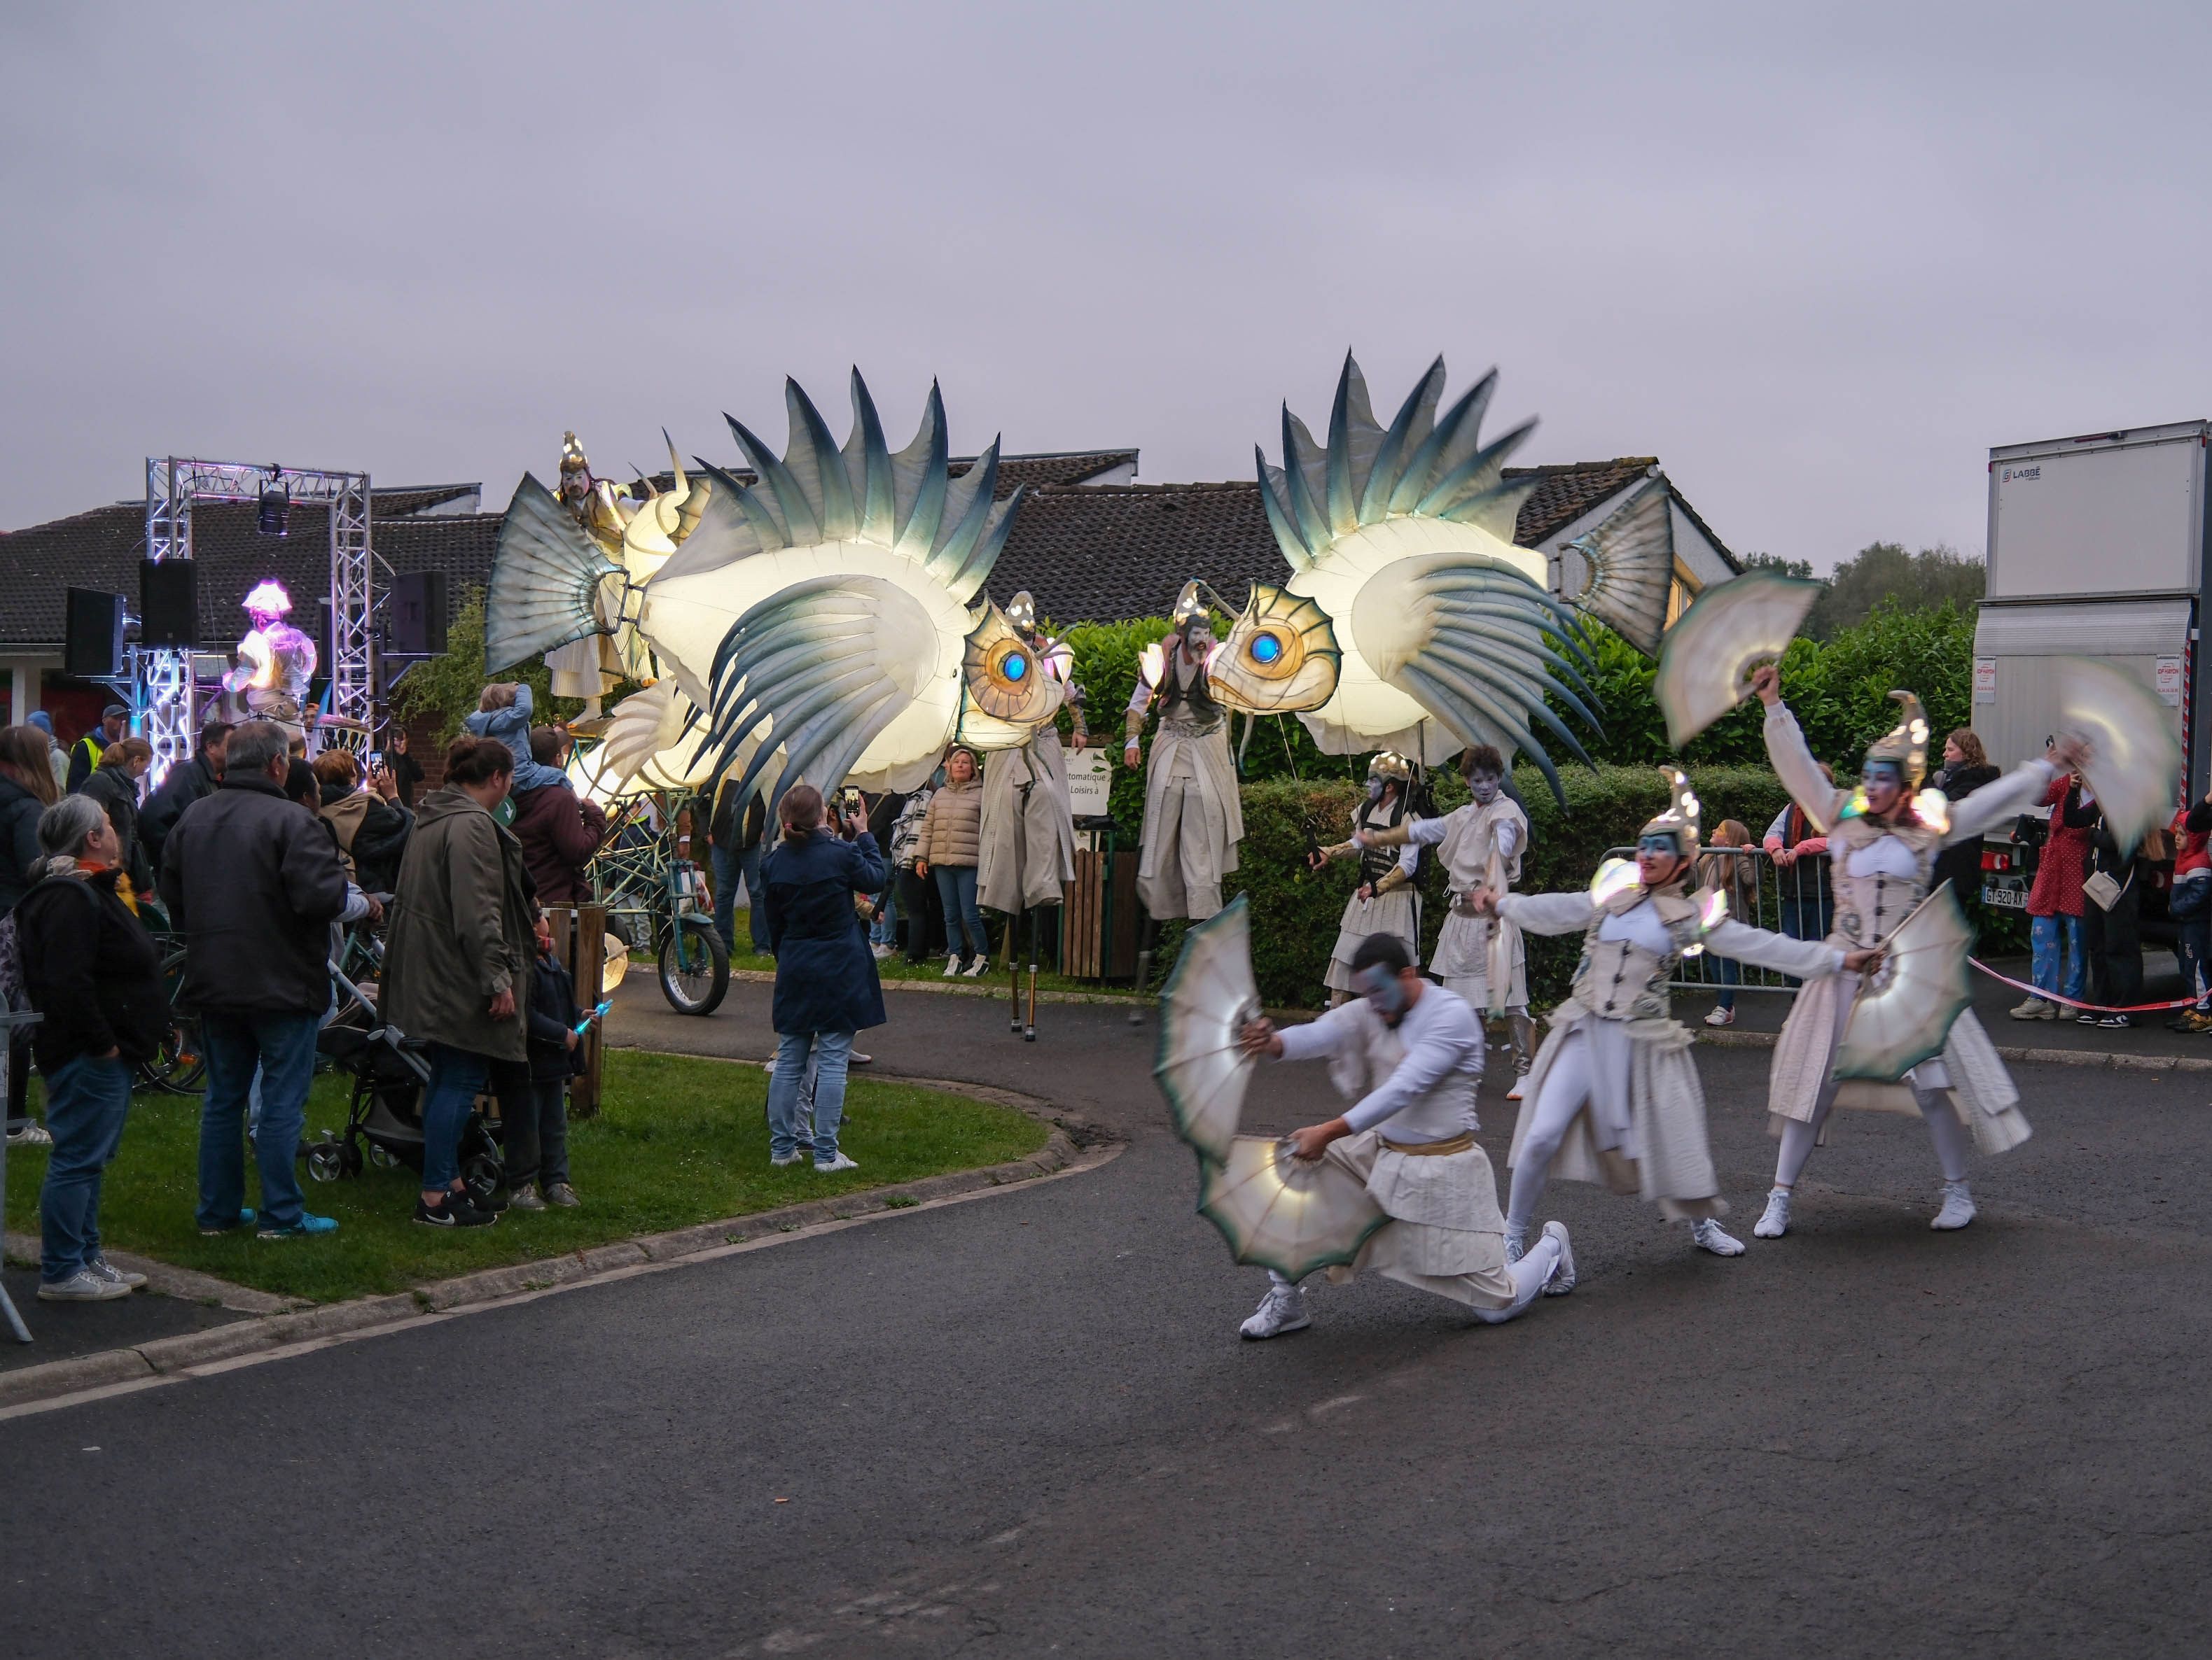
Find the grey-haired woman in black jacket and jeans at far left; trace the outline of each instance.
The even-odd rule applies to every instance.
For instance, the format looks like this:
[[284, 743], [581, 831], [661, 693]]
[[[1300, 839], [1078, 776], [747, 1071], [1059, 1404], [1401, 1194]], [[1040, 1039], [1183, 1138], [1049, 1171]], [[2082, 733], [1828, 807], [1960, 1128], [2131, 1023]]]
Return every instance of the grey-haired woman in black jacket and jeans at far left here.
[[100, 1253], [100, 1178], [122, 1143], [131, 1072], [168, 1030], [161, 953], [115, 893], [122, 840], [91, 796], [40, 813], [40, 880], [13, 911], [53, 1154], [38, 1194], [44, 1302], [106, 1302], [146, 1284]]

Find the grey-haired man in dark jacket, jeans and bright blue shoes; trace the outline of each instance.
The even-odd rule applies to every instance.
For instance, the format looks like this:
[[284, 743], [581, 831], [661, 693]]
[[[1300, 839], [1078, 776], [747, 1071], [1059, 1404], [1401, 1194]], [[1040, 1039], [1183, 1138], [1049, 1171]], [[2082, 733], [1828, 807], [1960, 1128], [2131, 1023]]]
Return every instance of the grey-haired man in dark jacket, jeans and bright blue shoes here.
[[192, 802], [161, 847], [161, 897], [184, 935], [186, 1008], [199, 1012], [208, 1094], [199, 1112], [199, 1231], [250, 1220], [246, 1101], [261, 1068], [261, 1236], [327, 1233], [301, 1205], [294, 1156], [330, 1008], [330, 924], [345, 866], [314, 813], [285, 800], [292, 754], [274, 721], [230, 734], [221, 787]]

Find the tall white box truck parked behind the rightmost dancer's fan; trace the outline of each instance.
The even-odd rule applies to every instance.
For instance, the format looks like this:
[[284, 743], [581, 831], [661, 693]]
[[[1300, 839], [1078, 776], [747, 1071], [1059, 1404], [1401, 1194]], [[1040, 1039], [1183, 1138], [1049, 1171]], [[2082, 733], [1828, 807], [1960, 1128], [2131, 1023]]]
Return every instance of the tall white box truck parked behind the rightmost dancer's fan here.
[[[2212, 422], [2183, 420], [1989, 451], [1973, 727], [1997, 767], [2044, 752], [2057, 725], [2053, 659], [2097, 656], [2157, 692], [2188, 760], [2188, 800], [2205, 794], [2208, 444]], [[2026, 904], [2033, 847], [1991, 838], [1982, 866], [1986, 904]]]

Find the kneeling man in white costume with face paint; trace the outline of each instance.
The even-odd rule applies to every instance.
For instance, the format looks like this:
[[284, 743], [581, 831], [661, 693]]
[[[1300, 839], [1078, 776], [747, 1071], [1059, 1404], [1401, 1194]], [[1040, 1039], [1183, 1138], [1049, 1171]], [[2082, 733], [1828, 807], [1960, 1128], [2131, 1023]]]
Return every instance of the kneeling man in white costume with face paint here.
[[[1506, 1262], [1498, 1178], [1475, 1145], [1482, 1026], [1467, 999], [1422, 979], [1405, 942], [1387, 933], [1354, 953], [1352, 977], [1358, 999], [1318, 1021], [1276, 1030], [1261, 1019], [1243, 1030], [1252, 1054], [1327, 1059], [1336, 1088], [1358, 1096], [1340, 1118], [1292, 1136], [1298, 1158], [1349, 1169], [1391, 1218], [1367, 1236], [1352, 1267], [1329, 1269], [1329, 1280], [1369, 1269], [1464, 1304], [1484, 1324], [1511, 1320], [1540, 1291], [1573, 1291], [1575, 1253], [1559, 1222], [1546, 1222], [1535, 1249]], [[1267, 1278], [1274, 1284], [1243, 1322], [1245, 1337], [1310, 1324], [1296, 1282], [1272, 1269]]]

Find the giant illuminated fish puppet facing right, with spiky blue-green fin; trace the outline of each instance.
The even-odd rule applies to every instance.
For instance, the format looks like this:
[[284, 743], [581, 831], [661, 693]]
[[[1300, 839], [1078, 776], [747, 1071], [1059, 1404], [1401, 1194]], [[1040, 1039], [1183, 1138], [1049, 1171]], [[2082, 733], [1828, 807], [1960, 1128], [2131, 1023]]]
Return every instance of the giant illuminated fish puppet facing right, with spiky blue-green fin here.
[[1060, 712], [1068, 652], [1031, 645], [980, 597], [1022, 502], [993, 500], [998, 440], [951, 477], [936, 387], [900, 451], [858, 369], [843, 446], [799, 382], [783, 396], [785, 453], [726, 418], [754, 482], [699, 462], [703, 504], [697, 482], [681, 500], [697, 519], [644, 581], [535, 477], [507, 508], [487, 663], [606, 632], [611, 610], [666, 670], [615, 707], [602, 794], [726, 774], [772, 798], [799, 780], [911, 789], [956, 736], [1015, 747]]

